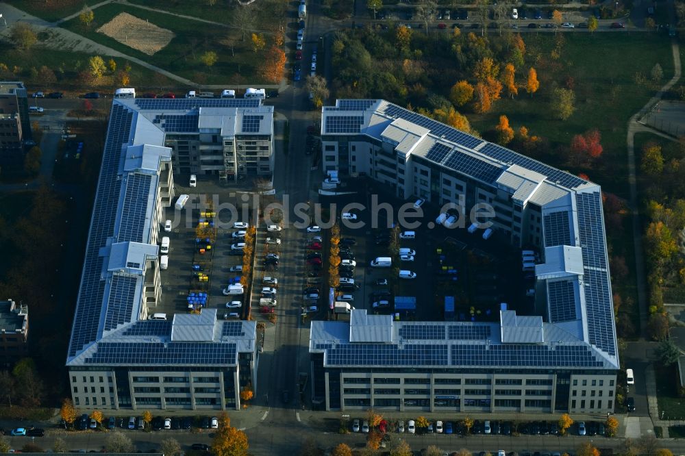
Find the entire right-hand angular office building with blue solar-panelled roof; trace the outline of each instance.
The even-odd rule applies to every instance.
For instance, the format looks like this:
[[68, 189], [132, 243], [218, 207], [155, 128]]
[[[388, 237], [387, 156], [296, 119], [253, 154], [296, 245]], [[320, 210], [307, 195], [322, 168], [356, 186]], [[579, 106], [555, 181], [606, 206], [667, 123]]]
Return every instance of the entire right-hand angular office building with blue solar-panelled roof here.
[[462, 227], [479, 203], [492, 208], [496, 238], [540, 253], [534, 278], [545, 311], [519, 316], [503, 305], [499, 323], [480, 323], [393, 322], [356, 310], [350, 322], [312, 322], [314, 401], [340, 410], [613, 411], [619, 357], [599, 186], [384, 100], [338, 100], [322, 117], [325, 171], [449, 207]]

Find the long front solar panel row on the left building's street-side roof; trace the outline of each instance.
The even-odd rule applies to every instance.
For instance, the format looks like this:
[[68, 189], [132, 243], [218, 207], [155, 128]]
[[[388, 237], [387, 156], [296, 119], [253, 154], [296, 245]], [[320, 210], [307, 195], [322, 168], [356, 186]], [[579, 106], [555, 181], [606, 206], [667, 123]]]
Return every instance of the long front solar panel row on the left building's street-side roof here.
[[123, 364], [127, 366], [175, 364], [197, 366], [234, 366], [236, 344], [219, 342], [99, 342], [86, 364]]

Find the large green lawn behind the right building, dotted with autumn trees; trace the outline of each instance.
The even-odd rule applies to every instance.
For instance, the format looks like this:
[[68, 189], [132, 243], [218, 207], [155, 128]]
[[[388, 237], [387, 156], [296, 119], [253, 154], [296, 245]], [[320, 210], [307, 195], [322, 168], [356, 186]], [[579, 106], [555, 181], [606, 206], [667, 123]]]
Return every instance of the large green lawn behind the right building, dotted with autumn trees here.
[[[501, 99], [488, 114], [469, 115], [478, 131], [488, 131], [497, 125], [501, 114], [508, 116], [513, 127], [525, 125], [531, 134], [550, 141], [545, 156], [538, 157], [559, 168], [568, 168], [566, 159], [558, 155], [558, 146], [567, 145], [573, 135], [588, 129], [599, 129], [604, 153], [593, 169], [570, 169], [574, 174], [586, 173], [603, 190], [619, 197], [629, 197], [625, 149], [626, 124], [630, 116], [642, 107], [654, 92], [654, 87], [638, 86], [634, 75], [649, 71], [657, 62], [664, 69], [664, 80], [673, 75], [673, 59], [667, 38], [658, 34], [601, 33], [564, 34], [564, 45], [558, 60], [550, 57], [555, 47], [552, 34], [522, 34], [527, 46], [526, 65], [538, 73], [540, 90], [531, 98], [524, 88], [516, 99]], [[591, 50], [591, 51], [588, 51]], [[521, 73], [521, 72], [519, 72]], [[575, 113], [566, 121], [558, 121], [549, 109], [553, 86], [565, 86], [573, 78]], [[519, 74], [519, 81], [525, 76]]]

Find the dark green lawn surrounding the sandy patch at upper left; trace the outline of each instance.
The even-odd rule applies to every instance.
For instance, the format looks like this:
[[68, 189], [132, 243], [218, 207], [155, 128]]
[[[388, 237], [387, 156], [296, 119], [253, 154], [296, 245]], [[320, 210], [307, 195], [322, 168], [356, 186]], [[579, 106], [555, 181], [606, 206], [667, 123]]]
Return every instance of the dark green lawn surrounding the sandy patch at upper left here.
[[[95, 31], [121, 12], [127, 12], [158, 27], [169, 29], [176, 36], [164, 49], [154, 55], [147, 55]], [[261, 77], [256, 75], [261, 56], [252, 51], [249, 34], [246, 40], [242, 41], [240, 32], [236, 29], [114, 3], [97, 8], [95, 21], [88, 28], [84, 27], [78, 18], [63, 23], [62, 27], [198, 84], [236, 85], [262, 82]], [[266, 36], [266, 40], [268, 47], [271, 44], [271, 36]], [[211, 68], [199, 60], [200, 55], [205, 51], [214, 51], [218, 56], [218, 61]]]

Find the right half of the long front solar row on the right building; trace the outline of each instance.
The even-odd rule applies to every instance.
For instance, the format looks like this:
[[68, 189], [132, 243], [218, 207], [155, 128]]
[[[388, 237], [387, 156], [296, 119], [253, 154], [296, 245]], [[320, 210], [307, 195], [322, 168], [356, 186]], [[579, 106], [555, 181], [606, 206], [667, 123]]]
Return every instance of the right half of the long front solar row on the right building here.
[[453, 345], [453, 366], [602, 367], [588, 346], [579, 345]]

